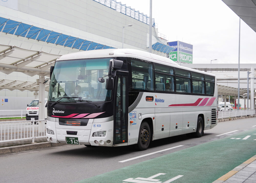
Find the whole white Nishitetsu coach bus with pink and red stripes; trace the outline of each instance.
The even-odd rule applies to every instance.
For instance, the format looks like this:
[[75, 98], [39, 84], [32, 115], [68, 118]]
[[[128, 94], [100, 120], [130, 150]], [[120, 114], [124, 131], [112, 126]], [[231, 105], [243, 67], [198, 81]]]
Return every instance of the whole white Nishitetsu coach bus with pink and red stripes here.
[[213, 74], [133, 49], [70, 53], [51, 67], [47, 134], [51, 143], [126, 146], [217, 125]]

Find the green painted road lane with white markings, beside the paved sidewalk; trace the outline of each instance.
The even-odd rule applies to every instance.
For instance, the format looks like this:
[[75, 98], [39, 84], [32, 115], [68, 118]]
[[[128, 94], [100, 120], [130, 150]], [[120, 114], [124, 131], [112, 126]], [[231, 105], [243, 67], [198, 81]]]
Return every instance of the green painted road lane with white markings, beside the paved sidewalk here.
[[[173, 182], [213, 182], [256, 154], [254, 139], [256, 128], [84, 179], [79, 183], [167, 183], [179, 175], [183, 176]], [[156, 175], [159, 173], [162, 174]]]

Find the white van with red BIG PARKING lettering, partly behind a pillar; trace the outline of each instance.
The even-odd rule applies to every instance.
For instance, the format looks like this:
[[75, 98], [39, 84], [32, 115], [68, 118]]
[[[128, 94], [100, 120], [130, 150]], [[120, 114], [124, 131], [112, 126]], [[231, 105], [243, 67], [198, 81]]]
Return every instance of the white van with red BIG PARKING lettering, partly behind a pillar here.
[[[35, 99], [30, 102], [30, 104], [27, 105], [26, 109], [26, 120], [31, 120], [31, 118], [35, 118], [35, 120], [38, 120], [38, 103], [39, 100]], [[47, 99], [45, 99], [45, 119], [47, 118]]]

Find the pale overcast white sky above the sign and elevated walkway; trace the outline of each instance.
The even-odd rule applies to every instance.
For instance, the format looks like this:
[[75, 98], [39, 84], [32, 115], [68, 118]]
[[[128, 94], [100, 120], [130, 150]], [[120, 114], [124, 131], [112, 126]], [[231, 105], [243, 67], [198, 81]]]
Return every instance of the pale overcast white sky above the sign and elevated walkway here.
[[[150, 15], [150, 0], [119, 0]], [[238, 63], [239, 17], [221, 0], [152, 0], [152, 18], [168, 42], [193, 45], [193, 63]], [[256, 63], [256, 33], [241, 19], [240, 63]]]

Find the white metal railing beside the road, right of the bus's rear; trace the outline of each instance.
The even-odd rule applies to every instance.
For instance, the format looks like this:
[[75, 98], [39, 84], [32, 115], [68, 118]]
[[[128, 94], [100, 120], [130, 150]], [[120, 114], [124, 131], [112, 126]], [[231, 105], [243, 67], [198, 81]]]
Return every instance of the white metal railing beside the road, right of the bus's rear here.
[[218, 120], [228, 119], [228, 118], [233, 118], [233, 117], [240, 117], [240, 116], [250, 116], [250, 115], [255, 115], [255, 109], [219, 111], [218, 112]]

